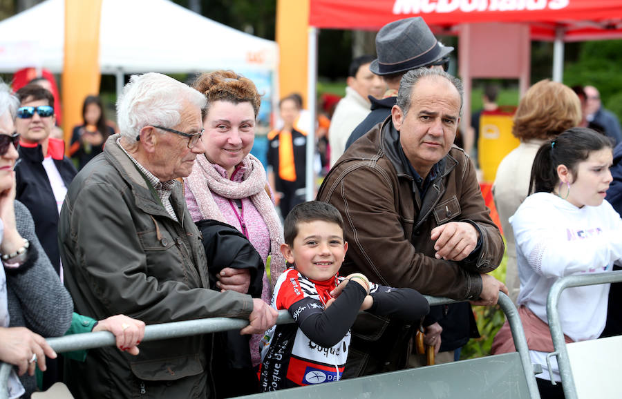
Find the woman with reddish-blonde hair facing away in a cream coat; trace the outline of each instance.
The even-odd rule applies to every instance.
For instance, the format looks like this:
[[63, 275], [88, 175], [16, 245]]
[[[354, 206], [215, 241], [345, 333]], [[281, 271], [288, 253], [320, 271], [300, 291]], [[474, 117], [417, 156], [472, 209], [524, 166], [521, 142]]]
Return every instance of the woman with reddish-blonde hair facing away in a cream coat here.
[[516, 246], [509, 217], [529, 192], [531, 164], [538, 148], [548, 139], [557, 137], [581, 122], [581, 102], [574, 91], [549, 79], [538, 81], [522, 97], [514, 115], [512, 134], [520, 140], [499, 164], [493, 184], [495, 206], [506, 240], [507, 269], [505, 285], [516, 304], [520, 280], [516, 266]]

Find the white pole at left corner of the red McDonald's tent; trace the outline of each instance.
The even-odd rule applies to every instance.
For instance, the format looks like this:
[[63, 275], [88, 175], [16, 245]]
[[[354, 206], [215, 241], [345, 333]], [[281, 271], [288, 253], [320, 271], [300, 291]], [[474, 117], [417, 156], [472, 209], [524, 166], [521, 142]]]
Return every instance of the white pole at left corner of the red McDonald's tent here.
[[313, 166], [315, 164], [315, 121], [316, 95], [315, 85], [317, 81], [317, 28], [309, 27], [307, 57], [307, 107], [309, 110], [309, 124], [307, 130], [307, 173], [305, 199], [312, 201], [315, 197], [315, 182]]

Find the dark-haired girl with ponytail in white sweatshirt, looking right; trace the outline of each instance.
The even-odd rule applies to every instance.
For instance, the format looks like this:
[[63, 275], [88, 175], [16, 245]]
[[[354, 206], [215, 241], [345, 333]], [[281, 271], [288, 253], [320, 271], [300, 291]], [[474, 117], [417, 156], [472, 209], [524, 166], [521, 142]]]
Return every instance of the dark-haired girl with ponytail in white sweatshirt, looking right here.
[[[612, 144], [588, 128], [571, 128], [540, 147], [531, 168], [531, 192], [510, 218], [514, 237], [521, 316], [531, 360], [541, 364], [540, 396], [563, 398], [557, 362], [549, 374], [546, 355], [554, 351], [547, 324], [547, 296], [566, 275], [612, 270], [622, 258], [622, 220], [605, 201], [612, 176]], [[594, 340], [607, 316], [610, 284], [578, 286], [563, 291], [560, 322], [567, 342]], [[506, 323], [507, 324], [507, 323]], [[505, 331], [504, 331], [505, 330]], [[504, 326], [493, 353], [513, 351]]]

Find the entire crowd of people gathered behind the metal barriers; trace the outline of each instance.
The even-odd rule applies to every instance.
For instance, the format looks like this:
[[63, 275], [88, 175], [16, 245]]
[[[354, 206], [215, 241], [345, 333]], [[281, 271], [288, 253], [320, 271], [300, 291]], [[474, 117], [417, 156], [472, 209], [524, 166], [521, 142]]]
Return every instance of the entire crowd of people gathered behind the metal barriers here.
[[[506, 246], [471, 157], [480, 126], [458, 130], [464, 93], [446, 72], [452, 51], [421, 18], [384, 26], [377, 57], [352, 60], [346, 96], [326, 99], [321, 115], [305, 115], [295, 93], [281, 99], [266, 165], [250, 153], [261, 95], [234, 71], [191, 86], [133, 75], [117, 124], [86, 97], [67, 146], [48, 89], [34, 81], [14, 95], [2, 84], [0, 360], [17, 366], [10, 397], [37, 389], [36, 364], [40, 389], [63, 380], [76, 397], [227, 398], [313, 383], [301, 367], [327, 381], [421, 367], [417, 333], [437, 363], [453, 362], [479, 336], [471, 304], [494, 305], [500, 291], [519, 306], [532, 360], [544, 366], [552, 283], [622, 258], [620, 126], [593, 86], [545, 79], [522, 97], [520, 145], [493, 185], [506, 288], [489, 274]], [[484, 112], [495, 109], [491, 87]], [[315, 162], [304, 117], [318, 119], [319, 202], [303, 203]], [[607, 306], [616, 288], [569, 291], [560, 302], [569, 342], [619, 332]], [[470, 303], [428, 308], [420, 294]], [[274, 327], [277, 309], [296, 324]], [[140, 344], [145, 324], [215, 316], [249, 325]], [[117, 349], [63, 363], [44, 340], [104, 330]], [[493, 351], [513, 351], [507, 334]], [[563, 397], [552, 380], [556, 368], [538, 376], [543, 398]]]

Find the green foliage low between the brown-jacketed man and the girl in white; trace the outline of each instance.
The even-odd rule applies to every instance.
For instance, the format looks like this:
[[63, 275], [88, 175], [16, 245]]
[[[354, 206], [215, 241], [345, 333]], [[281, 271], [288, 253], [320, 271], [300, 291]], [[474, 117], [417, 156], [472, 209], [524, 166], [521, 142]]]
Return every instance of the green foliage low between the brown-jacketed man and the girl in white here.
[[[505, 269], [507, 266], [507, 254], [503, 255], [501, 264], [490, 274], [499, 281], [505, 282]], [[497, 331], [505, 323], [505, 314], [499, 305], [495, 306], [473, 306], [475, 322], [478, 324], [480, 338], [472, 338], [462, 347], [460, 359], [473, 359], [488, 356], [490, 348], [497, 335]]]

